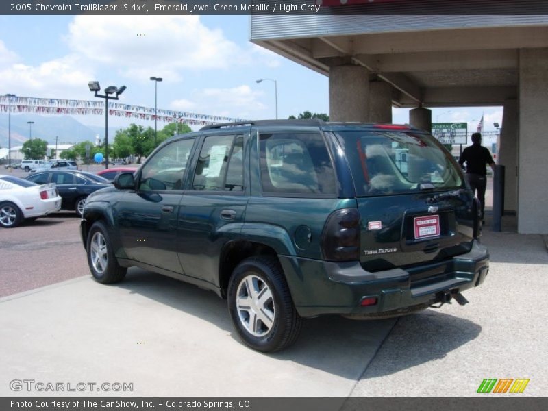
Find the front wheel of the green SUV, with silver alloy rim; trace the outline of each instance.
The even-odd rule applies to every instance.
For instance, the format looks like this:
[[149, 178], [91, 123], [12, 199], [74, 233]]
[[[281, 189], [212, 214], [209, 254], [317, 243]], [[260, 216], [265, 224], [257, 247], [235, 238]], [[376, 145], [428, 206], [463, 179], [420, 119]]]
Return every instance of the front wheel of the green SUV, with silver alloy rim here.
[[96, 221], [91, 226], [86, 242], [88, 265], [95, 280], [101, 284], [120, 282], [125, 277], [127, 268], [116, 261], [105, 225]]

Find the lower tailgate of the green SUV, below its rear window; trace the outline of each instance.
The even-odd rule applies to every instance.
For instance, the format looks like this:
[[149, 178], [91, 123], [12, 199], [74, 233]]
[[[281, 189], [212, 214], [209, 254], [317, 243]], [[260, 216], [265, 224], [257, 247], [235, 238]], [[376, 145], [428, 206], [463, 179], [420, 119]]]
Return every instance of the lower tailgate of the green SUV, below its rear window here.
[[360, 262], [367, 271], [443, 261], [471, 249], [474, 210], [471, 192], [358, 199], [362, 221]]

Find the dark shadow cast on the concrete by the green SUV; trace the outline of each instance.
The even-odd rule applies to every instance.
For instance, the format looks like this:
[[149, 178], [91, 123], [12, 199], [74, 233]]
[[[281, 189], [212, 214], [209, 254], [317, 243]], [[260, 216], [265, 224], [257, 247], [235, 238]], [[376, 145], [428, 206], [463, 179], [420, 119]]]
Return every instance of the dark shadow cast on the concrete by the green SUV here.
[[[129, 269], [125, 281], [114, 286], [208, 321], [229, 333], [240, 344], [238, 334], [232, 327], [226, 300], [213, 292], [137, 268]], [[470, 321], [435, 312], [399, 321], [397, 340], [402, 344], [397, 356], [388, 359], [391, 365], [386, 369], [390, 371], [386, 372], [390, 373], [443, 357], [448, 351], [475, 338], [480, 330]], [[395, 319], [355, 321], [340, 316], [305, 319], [295, 345], [285, 351], [266, 355], [357, 380], [395, 322]], [[406, 326], [401, 327], [401, 324]]]

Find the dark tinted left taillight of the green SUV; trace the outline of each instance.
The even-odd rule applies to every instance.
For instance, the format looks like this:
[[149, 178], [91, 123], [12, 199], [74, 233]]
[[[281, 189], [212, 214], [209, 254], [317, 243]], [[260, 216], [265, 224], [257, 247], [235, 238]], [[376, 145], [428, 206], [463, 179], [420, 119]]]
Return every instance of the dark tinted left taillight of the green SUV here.
[[325, 260], [360, 258], [360, 213], [357, 208], [332, 212], [323, 229], [322, 251]]

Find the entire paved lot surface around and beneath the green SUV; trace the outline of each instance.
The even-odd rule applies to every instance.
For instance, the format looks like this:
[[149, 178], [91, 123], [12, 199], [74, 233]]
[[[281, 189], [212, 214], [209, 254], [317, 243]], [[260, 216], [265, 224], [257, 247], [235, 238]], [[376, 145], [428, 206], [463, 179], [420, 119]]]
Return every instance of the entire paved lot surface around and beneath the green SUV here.
[[12, 379], [134, 384], [116, 395], [473, 396], [484, 378], [548, 388], [541, 236], [486, 230], [490, 273], [468, 306], [310, 319], [294, 347], [265, 355], [239, 342], [212, 292], [140, 269], [94, 282], [78, 225], [66, 212], [0, 230], [0, 395], [63, 395], [13, 392]]

